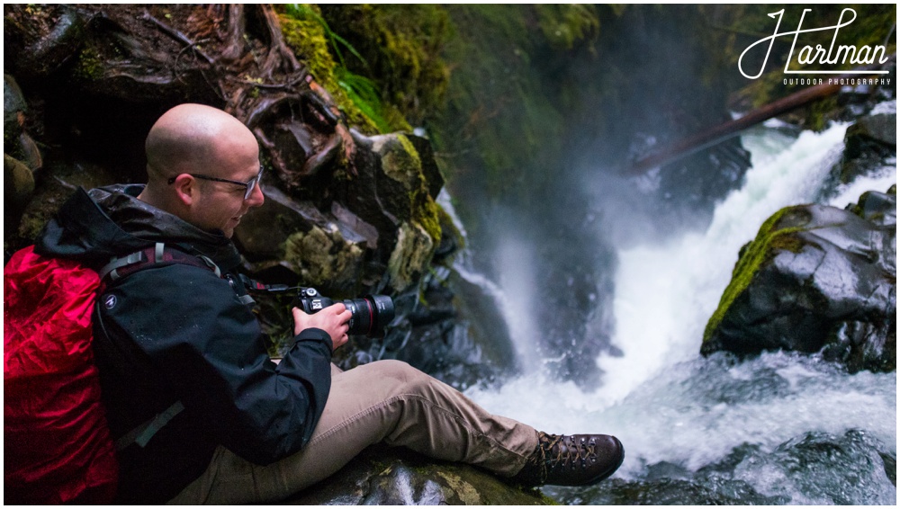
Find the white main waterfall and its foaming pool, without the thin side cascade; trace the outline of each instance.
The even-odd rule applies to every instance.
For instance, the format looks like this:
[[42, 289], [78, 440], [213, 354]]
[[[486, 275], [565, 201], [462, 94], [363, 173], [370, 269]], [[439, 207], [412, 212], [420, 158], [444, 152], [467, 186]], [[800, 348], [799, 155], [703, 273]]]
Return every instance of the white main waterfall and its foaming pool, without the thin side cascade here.
[[[599, 389], [584, 392], [536, 369], [499, 389], [467, 394], [491, 412], [550, 433], [617, 435], [626, 445], [617, 477], [626, 479], [660, 461], [698, 469], [743, 443], [771, 452], [807, 432], [842, 436], [862, 429], [896, 456], [896, 373], [851, 375], [792, 353], [765, 353], [735, 365], [699, 356], [703, 329], [741, 246], [772, 213], [815, 201], [842, 155], [846, 128], [804, 131], [798, 138], [752, 131], [743, 137], [752, 168], [743, 187], [717, 205], [706, 232], [618, 253], [612, 341], [623, 355], [599, 357], [605, 373]], [[861, 192], [885, 192], [894, 183], [896, 165], [887, 166], [843, 186], [828, 204], [843, 208]], [[793, 504], [833, 503], [800, 487], [806, 480], [788, 479], [771, 465], [738, 470], [763, 494], [790, 496]], [[883, 496], [867, 503], [896, 503], [889, 482], [875, 491]]]

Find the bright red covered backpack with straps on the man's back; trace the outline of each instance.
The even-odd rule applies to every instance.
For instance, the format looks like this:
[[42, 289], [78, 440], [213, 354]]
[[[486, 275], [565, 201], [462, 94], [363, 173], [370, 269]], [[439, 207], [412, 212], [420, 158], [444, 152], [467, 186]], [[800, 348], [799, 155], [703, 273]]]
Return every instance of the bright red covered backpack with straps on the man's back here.
[[[113, 260], [112, 278], [153, 263], [206, 266], [162, 244]], [[218, 273], [218, 268], [215, 268]], [[102, 277], [84, 265], [17, 252], [4, 268], [4, 504], [109, 504], [116, 443], [100, 396], [91, 316]], [[146, 444], [180, 402], [127, 433]], [[147, 428], [150, 431], [147, 431]], [[142, 435], [142, 436], [141, 436]]]

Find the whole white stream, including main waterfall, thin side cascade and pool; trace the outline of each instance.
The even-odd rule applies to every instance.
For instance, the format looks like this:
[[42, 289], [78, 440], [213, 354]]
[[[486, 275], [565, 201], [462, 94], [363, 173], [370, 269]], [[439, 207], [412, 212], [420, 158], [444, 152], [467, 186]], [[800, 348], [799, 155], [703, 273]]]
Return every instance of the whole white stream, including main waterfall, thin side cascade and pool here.
[[[896, 372], [849, 374], [797, 353], [745, 362], [699, 355], [737, 254], [765, 219], [799, 203], [843, 208], [861, 192], [885, 192], [896, 183], [895, 162], [824, 192], [847, 127], [797, 135], [770, 121], [746, 131], [752, 168], [743, 186], [716, 205], [706, 231], [617, 251], [612, 343], [621, 354], [599, 356], [603, 375], [595, 390], [558, 381], [547, 372], [553, 363], [535, 356], [527, 320], [519, 319], [536, 297], [530, 271], [539, 270], [517, 255], [527, 246], [497, 254], [509, 258], [500, 263], [499, 281], [457, 267], [497, 299], [522, 366], [499, 388], [466, 394], [548, 433], [617, 435], [626, 447], [614, 476], [621, 482], [683, 479], [739, 504], [895, 505], [882, 458], [896, 460]], [[602, 183], [597, 187], [594, 196], [603, 200]], [[563, 503], [610, 503], [602, 489], [544, 491]]]

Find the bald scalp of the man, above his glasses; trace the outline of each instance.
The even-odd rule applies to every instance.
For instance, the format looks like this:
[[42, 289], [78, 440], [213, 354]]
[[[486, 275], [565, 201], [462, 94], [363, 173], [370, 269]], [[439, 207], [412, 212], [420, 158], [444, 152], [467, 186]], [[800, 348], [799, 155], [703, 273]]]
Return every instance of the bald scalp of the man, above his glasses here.
[[145, 144], [150, 181], [176, 174], [216, 173], [236, 152], [256, 152], [257, 140], [238, 119], [202, 104], [180, 104], [150, 128]]

